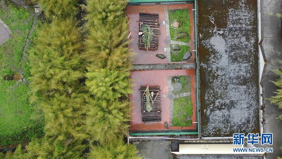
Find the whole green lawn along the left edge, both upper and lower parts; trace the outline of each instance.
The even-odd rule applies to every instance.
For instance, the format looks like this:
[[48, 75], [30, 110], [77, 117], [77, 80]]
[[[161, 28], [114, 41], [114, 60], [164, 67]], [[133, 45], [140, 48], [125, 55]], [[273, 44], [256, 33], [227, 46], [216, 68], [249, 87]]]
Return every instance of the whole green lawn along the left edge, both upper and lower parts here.
[[[29, 102], [29, 85], [4, 80], [6, 74], [20, 73], [33, 17], [28, 10], [4, 0], [0, 2], [0, 18], [12, 32], [12, 39], [0, 46], [0, 145], [9, 145], [42, 135], [44, 122], [42, 113]], [[24, 76], [29, 75], [29, 67], [25, 60]]]

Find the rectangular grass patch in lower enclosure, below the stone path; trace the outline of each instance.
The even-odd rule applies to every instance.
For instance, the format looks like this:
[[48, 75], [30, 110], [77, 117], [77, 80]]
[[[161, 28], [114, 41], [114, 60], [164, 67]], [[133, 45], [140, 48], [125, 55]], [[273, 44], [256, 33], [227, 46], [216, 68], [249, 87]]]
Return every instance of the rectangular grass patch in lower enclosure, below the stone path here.
[[191, 126], [192, 121], [189, 116], [193, 115], [193, 106], [190, 96], [184, 96], [173, 99], [173, 126]]

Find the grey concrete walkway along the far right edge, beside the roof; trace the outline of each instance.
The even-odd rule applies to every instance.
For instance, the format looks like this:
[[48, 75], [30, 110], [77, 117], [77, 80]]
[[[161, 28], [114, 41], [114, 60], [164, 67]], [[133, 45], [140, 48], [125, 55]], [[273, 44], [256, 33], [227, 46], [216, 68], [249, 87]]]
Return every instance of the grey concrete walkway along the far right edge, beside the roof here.
[[[270, 80], [275, 81], [279, 76], [271, 72], [271, 69], [278, 69], [279, 65], [276, 60], [282, 60], [282, 41], [281, 41], [281, 19], [270, 16], [269, 12], [280, 13], [282, 1], [281, 0], [264, 0], [263, 1], [263, 31], [264, 31], [264, 41], [263, 47], [265, 56], [267, 59], [267, 67], [265, 73], [265, 97], [274, 96], [274, 90], [277, 87], [270, 82]], [[271, 104], [268, 100], [265, 101], [265, 118], [266, 118], [266, 133], [273, 133], [273, 145], [266, 147], [273, 147], [274, 152], [268, 153], [267, 157], [269, 159], [275, 159], [277, 156], [282, 157], [281, 150], [279, 146], [282, 146], [282, 120], [277, 119], [282, 110], [278, 109], [278, 106]]]

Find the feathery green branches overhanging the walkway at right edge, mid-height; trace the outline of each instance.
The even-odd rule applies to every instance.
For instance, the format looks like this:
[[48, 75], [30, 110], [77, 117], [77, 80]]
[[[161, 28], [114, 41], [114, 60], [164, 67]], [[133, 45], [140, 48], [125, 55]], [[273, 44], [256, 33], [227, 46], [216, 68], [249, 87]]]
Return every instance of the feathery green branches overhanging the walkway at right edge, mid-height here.
[[[280, 64], [282, 64], [282, 61], [279, 61]], [[272, 70], [275, 74], [279, 75], [279, 79], [277, 81], [272, 81], [279, 89], [274, 91], [276, 96], [271, 96], [268, 98], [270, 103], [274, 103], [278, 105], [279, 109], [282, 109], [282, 67], [280, 66], [279, 69]], [[282, 119], [282, 115], [279, 115], [279, 119]]]

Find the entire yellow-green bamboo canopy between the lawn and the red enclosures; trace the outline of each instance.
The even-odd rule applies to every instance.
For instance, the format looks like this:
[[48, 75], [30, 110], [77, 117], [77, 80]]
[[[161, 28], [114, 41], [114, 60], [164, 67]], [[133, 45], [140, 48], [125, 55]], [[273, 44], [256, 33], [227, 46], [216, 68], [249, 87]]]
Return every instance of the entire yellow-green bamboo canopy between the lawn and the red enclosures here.
[[123, 141], [132, 93], [127, 1], [87, 0], [84, 39], [75, 18], [67, 18], [77, 1], [40, 3], [51, 22], [30, 51], [31, 101], [44, 112], [45, 135], [22, 158], [139, 158]]

